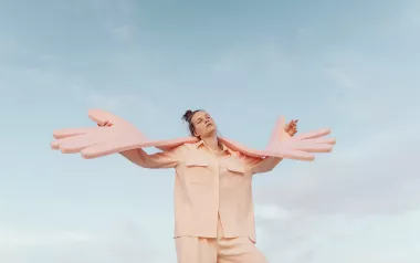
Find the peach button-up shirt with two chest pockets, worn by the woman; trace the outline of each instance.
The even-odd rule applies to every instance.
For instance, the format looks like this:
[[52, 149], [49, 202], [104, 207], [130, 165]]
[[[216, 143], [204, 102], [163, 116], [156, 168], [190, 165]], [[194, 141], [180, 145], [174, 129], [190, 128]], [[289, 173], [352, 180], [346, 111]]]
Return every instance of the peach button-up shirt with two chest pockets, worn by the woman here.
[[272, 170], [281, 158], [251, 158], [224, 145], [216, 152], [202, 140], [153, 155], [137, 149], [123, 156], [145, 168], [175, 168], [175, 238], [217, 238], [220, 215], [225, 238], [256, 241], [252, 176]]

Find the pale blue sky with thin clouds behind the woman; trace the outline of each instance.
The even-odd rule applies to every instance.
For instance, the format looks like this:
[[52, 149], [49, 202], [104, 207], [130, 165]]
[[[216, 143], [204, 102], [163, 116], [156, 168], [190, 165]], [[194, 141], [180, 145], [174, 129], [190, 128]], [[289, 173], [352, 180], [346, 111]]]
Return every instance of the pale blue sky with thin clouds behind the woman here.
[[0, 0], [0, 262], [176, 262], [172, 170], [50, 149], [93, 107], [158, 139], [204, 108], [256, 148], [279, 115], [330, 127], [333, 154], [255, 178], [258, 246], [420, 261], [418, 2]]

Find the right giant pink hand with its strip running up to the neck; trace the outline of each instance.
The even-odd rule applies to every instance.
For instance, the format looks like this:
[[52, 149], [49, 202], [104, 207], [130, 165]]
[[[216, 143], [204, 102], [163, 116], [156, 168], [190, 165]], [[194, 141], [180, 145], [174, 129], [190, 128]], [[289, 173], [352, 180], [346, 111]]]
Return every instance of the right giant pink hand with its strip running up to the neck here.
[[224, 138], [222, 140], [229, 147], [253, 157], [272, 156], [312, 161], [315, 159], [312, 152], [330, 152], [333, 150], [335, 138], [324, 137], [330, 134], [330, 129], [319, 129], [292, 137], [284, 130], [284, 125], [285, 118], [281, 116], [264, 150], [254, 150]]

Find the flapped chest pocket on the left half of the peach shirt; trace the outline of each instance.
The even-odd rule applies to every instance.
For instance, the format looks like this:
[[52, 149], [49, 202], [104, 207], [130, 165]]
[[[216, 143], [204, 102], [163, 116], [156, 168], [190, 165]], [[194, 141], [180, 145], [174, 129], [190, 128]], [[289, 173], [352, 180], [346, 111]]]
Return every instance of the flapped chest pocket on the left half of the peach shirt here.
[[212, 179], [209, 161], [206, 159], [191, 158], [186, 161], [185, 179], [191, 185], [207, 185]]

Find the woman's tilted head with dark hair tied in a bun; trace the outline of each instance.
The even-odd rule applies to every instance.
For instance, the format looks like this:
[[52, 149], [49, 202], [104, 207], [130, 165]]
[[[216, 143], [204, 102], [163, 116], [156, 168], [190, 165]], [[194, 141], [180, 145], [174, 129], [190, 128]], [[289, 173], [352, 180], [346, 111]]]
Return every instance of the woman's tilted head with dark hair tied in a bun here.
[[211, 118], [210, 114], [208, 114], [206, 111], [188, 109], [183, 114], [182, 119], [188, 123], [188, 128], [190, 130], [191, 136], [204, 138], [214, 136], [217, 134], [216, 123]]

